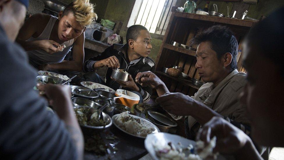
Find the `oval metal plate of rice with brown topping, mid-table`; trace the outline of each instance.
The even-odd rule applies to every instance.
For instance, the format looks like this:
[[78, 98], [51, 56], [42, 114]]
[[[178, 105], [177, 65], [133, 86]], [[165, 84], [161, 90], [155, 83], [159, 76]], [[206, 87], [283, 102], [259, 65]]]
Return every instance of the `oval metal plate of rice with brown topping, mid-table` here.
[[134, 137], [146, 138], [148, 134], [160, 132], [159, 128], [146, 119], [128, 112], [122, 112], [112, 117], [113, 124], [121, 131]]

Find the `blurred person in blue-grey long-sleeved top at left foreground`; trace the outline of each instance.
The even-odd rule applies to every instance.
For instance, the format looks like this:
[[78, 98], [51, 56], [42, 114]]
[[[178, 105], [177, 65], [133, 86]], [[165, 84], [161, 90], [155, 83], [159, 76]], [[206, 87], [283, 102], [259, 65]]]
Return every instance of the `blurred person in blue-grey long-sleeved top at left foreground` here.
[[84, 141], [66, 85], [33, 87], [37, 73], [14, 43], [24, 24], [28, 0], [0, 0], [0, 157], [83, 159]]

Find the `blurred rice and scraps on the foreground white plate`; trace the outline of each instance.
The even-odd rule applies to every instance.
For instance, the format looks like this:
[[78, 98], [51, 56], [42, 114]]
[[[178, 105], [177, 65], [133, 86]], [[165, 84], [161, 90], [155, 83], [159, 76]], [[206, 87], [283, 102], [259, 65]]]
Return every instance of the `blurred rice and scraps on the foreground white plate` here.
[[[174, 145], [169, 142], [166, 145], [161, 143], [153, 143], [156, 156], [161, 160], [183, 159], [183, 160], [202, 160], [210, 157], [216, 159], [217, 154], [213, 154], [213, 148], [216, 146], [216, 137], [210, 140], [210, 143], [205, 147], [203, 141], [197, 141], [196, 146], [193, 145], [182, 146], [180, 143]], [[186, 155], [186, 152], [188, 155]]]

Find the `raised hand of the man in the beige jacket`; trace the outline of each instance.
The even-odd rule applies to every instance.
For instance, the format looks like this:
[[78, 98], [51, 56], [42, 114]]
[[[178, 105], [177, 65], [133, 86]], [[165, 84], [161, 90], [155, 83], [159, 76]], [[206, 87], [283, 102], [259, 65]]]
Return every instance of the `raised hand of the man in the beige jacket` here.
[[151, 88], [157, 88], [164, 84], [164, 82], [162, 82], [161, 79], [151, 71], [138, 73], [135, 81], [143, 87], [148, 86]]

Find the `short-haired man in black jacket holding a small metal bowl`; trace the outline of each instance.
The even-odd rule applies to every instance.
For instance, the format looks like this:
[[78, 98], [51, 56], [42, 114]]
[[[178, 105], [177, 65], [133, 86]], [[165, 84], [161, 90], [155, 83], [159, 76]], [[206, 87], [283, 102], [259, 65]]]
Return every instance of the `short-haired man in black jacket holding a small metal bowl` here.
[[[124, 45], [113, 44], [106, 48], [101, 55], [90, 58], [84, 63], [84, 72], [94, 72], [98, 68], [109, 67], [106, 72], [106, 82], [104, 82], [97, 73], [87, 74], [86, 80], [96, 83], [104, 84], [112, 89], [126, 89], [138, 94], [143, 100], [147, 102], [152, 94], [152, 88], [142, 87], [133, 80], [137, 73], [146, 71], [155, 71], [154, 61], [148, 57], [150, 54], [151, 36], [148, 30], [141, 25], [133, 25], [129, 27], [126, 33], [126, 41]], [[125, 69], [130, 75], [127, 82], [115, 80], [111, 78], [113, 69]], [[89, 78], [90, 77], [90, 78]]]

